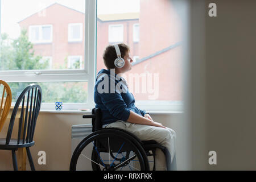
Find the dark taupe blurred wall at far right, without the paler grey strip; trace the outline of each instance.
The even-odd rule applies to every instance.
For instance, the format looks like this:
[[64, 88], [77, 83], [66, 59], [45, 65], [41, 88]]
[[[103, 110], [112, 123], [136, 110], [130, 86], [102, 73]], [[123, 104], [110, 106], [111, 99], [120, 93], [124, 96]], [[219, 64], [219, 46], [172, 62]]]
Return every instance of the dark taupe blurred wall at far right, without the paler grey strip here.
[[256, 169], [256, 1], [216, 2], [207, 16], [207, 150], [217, 152], [208, 169]]

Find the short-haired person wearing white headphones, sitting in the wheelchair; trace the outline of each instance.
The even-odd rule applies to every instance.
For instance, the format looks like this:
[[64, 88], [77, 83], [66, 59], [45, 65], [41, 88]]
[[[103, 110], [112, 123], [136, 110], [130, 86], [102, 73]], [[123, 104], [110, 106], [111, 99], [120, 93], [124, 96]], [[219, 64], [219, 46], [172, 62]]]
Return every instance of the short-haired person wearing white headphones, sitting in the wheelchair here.
[[[124, 61], [122, 67], [115, 64], [118, 48]], [[103, 59], [107, 69], [98, 72], [94, 87], [94, 102], [102, 111], [102, 127], [127, 130], [141, 140], [155, 140], [162, 144], [171, 154], [171, 164], [166, 164], [163, 152], [157, 149], [156, 170], [166, 170], [167, 165], [176, 170], [176, 133], [153, 121], [150, 114], [134, 105], [134, 96], [122, 77], [123, 73], [130, 71], [133, 60], [126, 44], [118, 44], [118, 48], [113, 45], [106, 47]]]

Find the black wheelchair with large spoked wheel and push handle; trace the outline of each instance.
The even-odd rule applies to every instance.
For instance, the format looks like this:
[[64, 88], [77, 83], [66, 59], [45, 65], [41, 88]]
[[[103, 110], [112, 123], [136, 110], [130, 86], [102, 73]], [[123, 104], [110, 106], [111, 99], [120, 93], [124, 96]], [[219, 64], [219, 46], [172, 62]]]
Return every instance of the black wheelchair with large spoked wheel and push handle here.
[[155, 171], [155, 150], [160, 148], [166, 156], [170, 170], [171, 155], [166, 147], [154, 140], [142, 141], [134, 134], [117, 128], [102, 128], [101, 110], [93, 108], [92, 132], [73, 152], [71, 171]]

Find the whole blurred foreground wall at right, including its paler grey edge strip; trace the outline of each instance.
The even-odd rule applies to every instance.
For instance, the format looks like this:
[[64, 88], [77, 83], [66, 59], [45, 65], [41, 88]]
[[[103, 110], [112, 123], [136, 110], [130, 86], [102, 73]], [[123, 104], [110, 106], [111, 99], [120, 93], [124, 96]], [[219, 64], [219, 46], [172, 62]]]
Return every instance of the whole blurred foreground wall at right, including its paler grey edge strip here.
[[[217, 17], [208, 16], [216, 3]], [[256, 169], [256, 1], [191, 1], [191, 169]], [[208, 152], [217, 152], [209, 165]]]

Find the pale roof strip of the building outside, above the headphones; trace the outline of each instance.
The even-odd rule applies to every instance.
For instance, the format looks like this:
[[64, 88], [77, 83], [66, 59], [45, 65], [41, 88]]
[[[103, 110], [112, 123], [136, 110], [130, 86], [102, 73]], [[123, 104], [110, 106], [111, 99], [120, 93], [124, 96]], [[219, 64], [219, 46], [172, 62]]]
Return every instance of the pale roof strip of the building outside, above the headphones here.
[[98, 15], [98, 19], [100, 19], [102, 22], [139, 19], [139, 13], [102, 14]]

